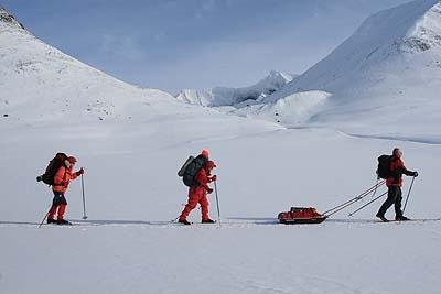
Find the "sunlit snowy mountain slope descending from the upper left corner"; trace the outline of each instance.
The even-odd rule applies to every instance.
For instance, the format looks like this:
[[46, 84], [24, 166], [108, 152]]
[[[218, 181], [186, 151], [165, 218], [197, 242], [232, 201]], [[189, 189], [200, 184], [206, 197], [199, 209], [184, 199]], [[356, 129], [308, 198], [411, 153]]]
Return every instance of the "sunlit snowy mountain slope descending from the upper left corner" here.
[[[201, 121], [208, 118], [218, 120], [212, 128], [212, 135], [234, 137], [244, 129], [250, 132], [280, 129], [182, 104], [161, 90], [125, 84], [41, 42], [8, 12], [2, 10], [1, 13], [2, 127], [137, 121], [162, 129], [158, 135], [164, 139], [176, 137], [183, 141], [200, 138]], [[192, 135], [180, 137], [179, 130], [185, 128], [193, 130]]]

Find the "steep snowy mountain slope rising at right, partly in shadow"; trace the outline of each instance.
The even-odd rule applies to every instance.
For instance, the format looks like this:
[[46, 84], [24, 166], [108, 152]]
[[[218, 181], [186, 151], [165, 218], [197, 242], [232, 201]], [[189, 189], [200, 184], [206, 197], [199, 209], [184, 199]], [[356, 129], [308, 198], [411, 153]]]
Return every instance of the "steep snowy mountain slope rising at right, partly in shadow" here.
[[[310, 122], [383, 134], [418, 132], [440, 140], [441, 3], [413, 1], [378, 12], [327, 57], [282, 90], [271, 104], [293, 94], [332, 94]], [[406, 126], [407, 130], [397, 129]]]

